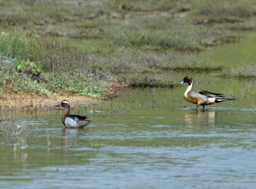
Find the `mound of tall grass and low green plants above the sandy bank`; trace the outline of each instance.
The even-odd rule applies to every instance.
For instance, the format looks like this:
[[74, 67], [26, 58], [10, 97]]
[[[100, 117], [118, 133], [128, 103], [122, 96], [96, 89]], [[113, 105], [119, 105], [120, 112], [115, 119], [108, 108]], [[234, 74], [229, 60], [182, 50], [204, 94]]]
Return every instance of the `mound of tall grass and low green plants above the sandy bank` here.
[[[109, 92], [110, 82], [87, 66], [86, 55], [52, 41], [37, 40], [30, 32], [14, 31], [1, 36], [0, 51], [1, 97], [17, 92], [46, 96], [58, 92], [102, 98]], [[16, 62], [27, 59], [40, 63], [43, 71], [39, 77], [47, 82], [16, 72]]]

